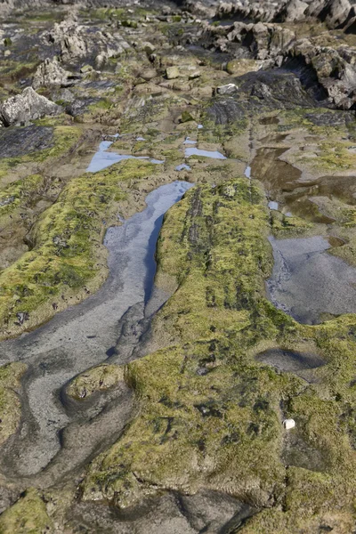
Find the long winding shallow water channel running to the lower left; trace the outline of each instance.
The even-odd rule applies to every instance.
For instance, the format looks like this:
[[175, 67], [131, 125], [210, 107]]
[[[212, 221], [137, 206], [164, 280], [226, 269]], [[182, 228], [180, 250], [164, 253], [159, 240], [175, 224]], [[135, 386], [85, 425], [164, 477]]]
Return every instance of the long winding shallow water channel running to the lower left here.
[[[49, 471], [38, 476], [53, 483], [53, 477], [61, 478], [63, 473], [83, 465], [101, 442], [117, 439], [117, 428], [121, 428], [120, 421], [123, 421], [120, 404], [114, 402], [108, 406], [108, 410], [114, 411], [110, 412], [111, 418], [103, 420], [103, 426], [91, 425], [88, 418], [78, 428], [71, 426], [76, 425], [76, 412], [74, 418], [71, 412], [66, 412], [58, 392], [73, 376], [107, 360], [122, 332], [120, 320], [129, 310], [132, 322], [125, 325], [134, 332], [130, 330], [132, 326], [137, 328], [140, 321], [147, 320], [150, 313], [166, 302], [169, 295], [154, 287], [158, 234], [166, 211], [193, 185], [175, 181], [151, 191], [142, 212], [106, 232], [104, 244], [109, 249], [109, 277], [101, 288], [26, 336], [0, 344], [3, 364], [9, 360], [27, 360], [32, 366], [36, 361], [26, 383], [31, 424], [13, 441], [5, 459], [13, 473], [34, 475], [51, 463]], [[132, 340], [127, 350], [133, 347], [131, 343]], [[128, 352], [123, 347], [121, 350], [117, 361], [126, 363]], [[42, 366], [46, 372], [37, 372]], [[108, 421], [114, 421], [114, 428]], [[64, 428], [66, 435], [69, 432], [77, 436], [73, 438], [77, 441], [69, 441], [69, 448], [59, 438]], [[75, 442], [80, 442], [80, 446], [73, 445]]]

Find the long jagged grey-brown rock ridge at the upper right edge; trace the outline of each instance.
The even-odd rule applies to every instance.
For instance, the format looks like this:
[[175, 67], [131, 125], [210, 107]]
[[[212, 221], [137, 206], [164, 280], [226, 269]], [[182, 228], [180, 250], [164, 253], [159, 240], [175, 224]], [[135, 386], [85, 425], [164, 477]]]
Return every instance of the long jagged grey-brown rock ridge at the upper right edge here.
[[[285, 17], [292, 16], [292, 12], [287, 11], [292, 4], [299, 5], [300, 12], [305, 7], [299, 0], [292, 0], [286, 4]], [[334, 7], [336, 10], [336, 5]], [[332, 20], [336, 24], [336, 18]], [[297, 40], [290, 28], [263, 22], [206, 25], [200, 43], [204, 41], [220, 52], [233, 54], [238, 60], [262, 61], [264, 69], [283, 66], [292, 70], [313, 98], [326, 106], [352, 109], [356, 105], [356, 48], [348, 44], [322, 46], [312, 37]]]

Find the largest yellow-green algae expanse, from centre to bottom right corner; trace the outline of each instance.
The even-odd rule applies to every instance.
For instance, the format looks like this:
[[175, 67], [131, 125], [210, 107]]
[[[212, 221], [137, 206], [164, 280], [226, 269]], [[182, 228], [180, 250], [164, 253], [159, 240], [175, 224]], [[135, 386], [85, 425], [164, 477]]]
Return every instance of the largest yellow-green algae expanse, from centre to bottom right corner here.
[[[150, 355], [125, 369], [137, 413], [89, 467], [85, 499], [125, 507], [157, 490], [208, 487], [271, 508], [241, 531], [318, 532], [327, 520], [348, 531], [356, 320], [303, 326], [265, 299], [268, 231], [263, 195], [244, 179], [197, 186], [166, 214], [156, 282], [174, 295], [153, 322]], [[255, 362], [263, 345], [301, 343], [327, 361], [311, 384]], [[296, 421], [292, 434], [284, 417]], [[321, 458], [319, 470], [310, 456], [288, 463], [288, 435]]]

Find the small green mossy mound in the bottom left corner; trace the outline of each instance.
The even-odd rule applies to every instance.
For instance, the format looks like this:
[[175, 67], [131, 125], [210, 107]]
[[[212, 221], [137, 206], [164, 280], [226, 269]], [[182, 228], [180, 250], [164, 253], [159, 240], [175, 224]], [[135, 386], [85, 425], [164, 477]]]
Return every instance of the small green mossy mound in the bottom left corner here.
[[0, 516], [1, 534], [44, 534], [53, 532], [44, 501], [39, 493], [30, 488], [24, 497], [5, 510]]

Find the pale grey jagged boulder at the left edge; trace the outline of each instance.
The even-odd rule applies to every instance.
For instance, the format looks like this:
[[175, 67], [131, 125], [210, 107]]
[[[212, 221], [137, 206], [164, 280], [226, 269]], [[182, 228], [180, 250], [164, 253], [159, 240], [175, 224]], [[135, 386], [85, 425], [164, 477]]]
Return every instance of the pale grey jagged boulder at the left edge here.
[[32, 87], [12, 96], [0, 106], [0, 122], [4, 126], [28, 125], [29, 121], [45, 115], [61, 113], [61, 106], [37, 94]]

